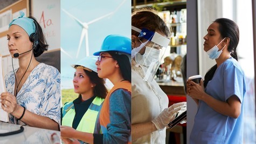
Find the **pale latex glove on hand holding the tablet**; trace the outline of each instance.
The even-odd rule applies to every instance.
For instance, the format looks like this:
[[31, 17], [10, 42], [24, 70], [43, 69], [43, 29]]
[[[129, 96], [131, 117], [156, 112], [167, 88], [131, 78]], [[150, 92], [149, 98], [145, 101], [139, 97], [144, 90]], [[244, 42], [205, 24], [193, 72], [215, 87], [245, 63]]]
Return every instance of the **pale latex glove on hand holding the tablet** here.
[[186, 107], [186, 102], [176, 103], [165, 108], [155, 119], [152, 120], [152, 123], [156, 126], [157, 130], [160, 131], [165, 128], [170, 121], [175, 119], [176, 113], [180, 111], [182, 107]]

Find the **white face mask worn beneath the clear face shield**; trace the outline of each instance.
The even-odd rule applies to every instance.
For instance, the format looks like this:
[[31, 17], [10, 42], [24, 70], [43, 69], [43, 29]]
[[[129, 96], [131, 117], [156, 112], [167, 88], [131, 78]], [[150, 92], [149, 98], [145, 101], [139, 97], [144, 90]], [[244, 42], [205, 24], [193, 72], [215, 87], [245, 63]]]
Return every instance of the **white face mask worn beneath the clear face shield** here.
[[145, 53], [143, 55], [141, 55], [140, 53], [137, 53], [135, 55], [135, 61], [138, 64], [141, 64], [147, 67], [150, 65], [150, 63], [153, 60], [159, 61], [159, 59], [160, 59], [160, 50], [154, 49], [148, 46], [146, 47]]

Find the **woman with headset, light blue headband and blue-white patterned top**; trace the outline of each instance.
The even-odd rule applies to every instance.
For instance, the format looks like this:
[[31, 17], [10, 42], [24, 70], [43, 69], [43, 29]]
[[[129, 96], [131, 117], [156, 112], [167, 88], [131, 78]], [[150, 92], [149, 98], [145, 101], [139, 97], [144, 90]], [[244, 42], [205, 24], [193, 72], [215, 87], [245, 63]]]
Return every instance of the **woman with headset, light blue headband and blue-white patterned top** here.
[[19, 68], [5, 76], [6, 91], [1, 93], [2, 109], [9, 123], [59, 129], [59, 71], [35, 57], [47, 51], [43, 32], [33, 17], [13, 19], [7, 34], [9, 52], [19, 60]]

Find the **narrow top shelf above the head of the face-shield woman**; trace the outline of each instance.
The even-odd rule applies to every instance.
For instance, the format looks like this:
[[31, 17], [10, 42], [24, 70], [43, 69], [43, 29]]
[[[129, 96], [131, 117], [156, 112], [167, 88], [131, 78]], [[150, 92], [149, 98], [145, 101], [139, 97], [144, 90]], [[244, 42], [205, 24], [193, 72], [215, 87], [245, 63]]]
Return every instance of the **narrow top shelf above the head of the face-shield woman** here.
[[158, 6], [160, 5], [163, 5], [163, 6], [175, 6], [175, 5], [185, 5], [186, 4], [186, 0], [181, 0], [181, 1], [171, 1], [171, 2], [162, 2], [162, 3], [159, 3], [159, 2], [147, 2], [147, 1], [144, 1], [144, 3], [136, 3], [136, 0], [134, 0], [133, 2], [135, 3], [132, 3], [132, 9], [140, 9], [140, 8], [145, 8], [145, 7], [152, 7], [153, 4], [157, 4]]

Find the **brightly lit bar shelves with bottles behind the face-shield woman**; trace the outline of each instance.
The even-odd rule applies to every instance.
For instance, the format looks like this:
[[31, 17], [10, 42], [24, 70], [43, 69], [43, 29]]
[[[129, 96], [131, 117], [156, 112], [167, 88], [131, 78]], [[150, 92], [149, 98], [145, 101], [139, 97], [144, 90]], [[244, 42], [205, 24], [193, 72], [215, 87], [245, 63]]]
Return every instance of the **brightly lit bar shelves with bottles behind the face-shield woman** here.
[[[159, 2], [160, 1], [160, 2]], [[164, 2], [163, 2], [164, 1]], [[154, 8], [172, 32], [170, 53], [186, 53], [186, 0], [132, 0], [132, 11], [141, 8]], [[182, 36], [180, 38], [180, 36]], [[174, 38], [174, 39], [173, 39]], [[178, 41], [177, 41], [178, 39]], [[180, 42], [182, 39], [182, 42]], [[175, 40], [175, 42], [173, 41]], [[177, 44], [177, 45], [171, 45]], [[162, 86], [162, 87], [166, 87]]]

